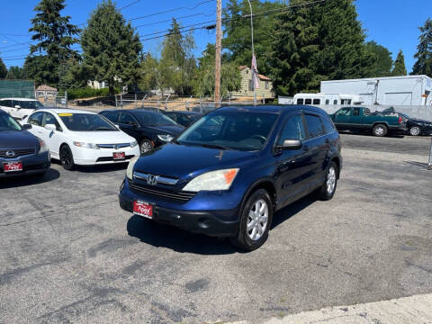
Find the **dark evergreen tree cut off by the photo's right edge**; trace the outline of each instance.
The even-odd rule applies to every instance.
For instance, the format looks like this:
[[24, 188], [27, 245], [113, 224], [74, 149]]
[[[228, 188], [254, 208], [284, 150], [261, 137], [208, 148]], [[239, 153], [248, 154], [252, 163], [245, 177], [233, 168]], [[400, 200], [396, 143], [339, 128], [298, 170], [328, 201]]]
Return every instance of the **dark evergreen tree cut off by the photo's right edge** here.
[[432, 77], [432, 20], [428, 19], [419, 30], [421, 31], [419, 46], [414, 56], [417, 61], [412, 68], [412, 74]]

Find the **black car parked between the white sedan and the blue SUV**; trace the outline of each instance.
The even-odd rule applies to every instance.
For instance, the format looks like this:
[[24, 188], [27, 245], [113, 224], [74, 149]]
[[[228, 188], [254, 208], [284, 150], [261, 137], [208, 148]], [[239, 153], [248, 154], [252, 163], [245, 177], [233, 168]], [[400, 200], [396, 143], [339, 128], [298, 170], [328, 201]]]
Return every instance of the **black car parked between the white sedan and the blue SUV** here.
[[170, 142], [184, 130], [183, 126], [160, 112], [137, 109], [100, 113], [136, 139], [141, 154]]

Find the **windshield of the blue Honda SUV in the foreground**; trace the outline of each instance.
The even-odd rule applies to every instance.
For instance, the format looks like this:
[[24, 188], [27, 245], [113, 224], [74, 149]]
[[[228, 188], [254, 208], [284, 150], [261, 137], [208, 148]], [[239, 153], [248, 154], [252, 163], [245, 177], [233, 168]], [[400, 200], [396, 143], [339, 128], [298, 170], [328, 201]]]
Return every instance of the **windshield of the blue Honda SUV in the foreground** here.
[[271, 112], [211, 112], [177, 139], [184, 145], [258, 150], [264, 147], [277, 119]]

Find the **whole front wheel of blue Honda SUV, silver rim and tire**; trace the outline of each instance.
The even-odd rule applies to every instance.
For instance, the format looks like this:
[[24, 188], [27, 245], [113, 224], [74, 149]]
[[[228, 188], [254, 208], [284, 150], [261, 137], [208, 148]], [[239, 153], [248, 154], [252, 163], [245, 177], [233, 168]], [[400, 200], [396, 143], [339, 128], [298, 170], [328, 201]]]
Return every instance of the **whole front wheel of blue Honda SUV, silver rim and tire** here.
[[[257, 209], [263, 211], [256, 212]], [[230, 241], [238, 248], [253, 251], [261, 247], [268, 238], [268, 231], [273, 220], [273, 202], [266, 190], [258, 189], [247, 199], [240, 212], [238, 235], [230, 238]]]

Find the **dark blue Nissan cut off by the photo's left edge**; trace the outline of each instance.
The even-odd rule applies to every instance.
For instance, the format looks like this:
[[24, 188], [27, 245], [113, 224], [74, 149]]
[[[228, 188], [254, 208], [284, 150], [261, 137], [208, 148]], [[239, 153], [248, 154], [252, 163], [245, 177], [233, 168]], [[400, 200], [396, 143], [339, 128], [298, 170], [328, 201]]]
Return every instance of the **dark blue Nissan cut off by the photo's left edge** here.
[[14, 175], [44, 175], [50, 166], [49, 148], [42, 139], [0, 111], [0, 178]]

